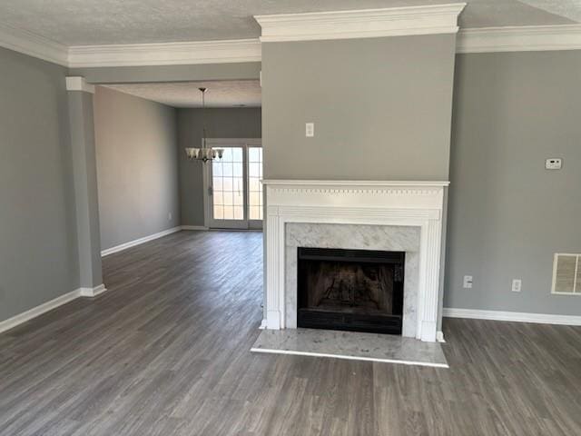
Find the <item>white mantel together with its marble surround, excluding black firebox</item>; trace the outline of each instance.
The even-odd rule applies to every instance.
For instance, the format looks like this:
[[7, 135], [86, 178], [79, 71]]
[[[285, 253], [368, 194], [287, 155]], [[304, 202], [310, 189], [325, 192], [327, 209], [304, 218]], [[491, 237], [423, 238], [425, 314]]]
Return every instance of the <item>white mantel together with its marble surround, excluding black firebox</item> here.
[[[404, 290], [404, 334], [422, 341], [436, 341], [442, 210], [448, 182], [264, 180], [263, 183], [265, 328], [296, 327], [296, 246], [299, 246], [296, 244], [327, 239], [327, 243], [333, 244], [331, 248], [405, 251], [405, 280], [409, 286]], [[419, 243], [414, 243], [418, 231]], [[293, 248], [294, 256], [290, 253]], [[415, 277], [417, 285], [413, 283]]]

